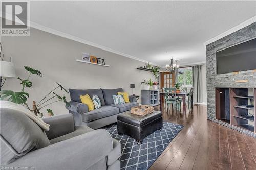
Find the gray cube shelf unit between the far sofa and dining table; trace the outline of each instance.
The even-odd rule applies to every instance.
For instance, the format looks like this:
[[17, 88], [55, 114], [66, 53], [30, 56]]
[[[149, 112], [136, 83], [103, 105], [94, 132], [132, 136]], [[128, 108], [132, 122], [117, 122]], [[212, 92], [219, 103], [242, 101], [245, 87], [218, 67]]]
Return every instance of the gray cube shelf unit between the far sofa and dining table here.
[[160, 89], [157, 90], [141, 90], [141, 104], [157, 106], [160, 105]]

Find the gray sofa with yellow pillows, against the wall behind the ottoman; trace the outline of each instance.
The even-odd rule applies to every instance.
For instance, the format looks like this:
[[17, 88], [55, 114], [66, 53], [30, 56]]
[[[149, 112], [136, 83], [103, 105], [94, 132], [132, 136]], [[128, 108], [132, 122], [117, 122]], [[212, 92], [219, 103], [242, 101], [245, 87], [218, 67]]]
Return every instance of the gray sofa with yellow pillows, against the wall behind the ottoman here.
[[[69, 89], [71, 107], [66, 107], [69, 113], [74, 115], [75, 125], [87, 125], [92, 129], [98, 129], [106, 125], [117, 122], [118, 113], [130, 110], [131, 107], [138, 106], [135, 96], [129, 96], [130, 103], [115, 105], [113, 95], [123, 92], [122, 88], [117, 89]], [[101, 102], [101, 108], [88, 111], [86, 104], [81, 103], [80, 95], [88, 94], [91, 98], [97, 95]]]

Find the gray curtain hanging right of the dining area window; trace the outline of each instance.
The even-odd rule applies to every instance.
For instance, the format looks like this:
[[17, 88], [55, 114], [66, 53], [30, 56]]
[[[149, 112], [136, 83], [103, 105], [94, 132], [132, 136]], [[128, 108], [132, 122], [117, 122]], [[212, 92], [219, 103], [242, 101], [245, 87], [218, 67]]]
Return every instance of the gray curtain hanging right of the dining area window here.
[[201, 76], [201, 65], [192, 66], [193, 74], [193, 102], [201, 103], [202, 102], [202, 76]]

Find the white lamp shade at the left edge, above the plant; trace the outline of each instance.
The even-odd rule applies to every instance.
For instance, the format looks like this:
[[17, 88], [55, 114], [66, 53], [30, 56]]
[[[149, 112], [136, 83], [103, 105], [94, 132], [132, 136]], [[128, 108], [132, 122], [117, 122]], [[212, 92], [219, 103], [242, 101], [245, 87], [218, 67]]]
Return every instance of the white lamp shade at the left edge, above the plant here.
[[8, 61], [0, 61], [0, 76], [2, 78], [16, 78], [14, 64]]

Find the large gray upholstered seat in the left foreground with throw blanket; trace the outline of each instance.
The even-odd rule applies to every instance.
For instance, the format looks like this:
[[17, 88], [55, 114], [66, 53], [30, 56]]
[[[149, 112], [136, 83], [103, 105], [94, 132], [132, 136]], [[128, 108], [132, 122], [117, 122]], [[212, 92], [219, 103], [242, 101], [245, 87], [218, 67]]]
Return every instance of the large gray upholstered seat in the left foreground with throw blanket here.
[[19, 110], [0, 110], [1, 168], [120, 169], [120, 142], [105, 129], [74, 126], [72, 114], [44, 118], [45, 132]]

